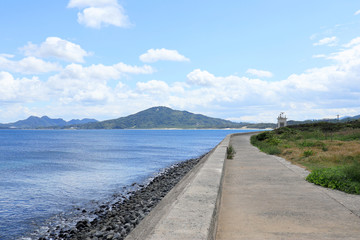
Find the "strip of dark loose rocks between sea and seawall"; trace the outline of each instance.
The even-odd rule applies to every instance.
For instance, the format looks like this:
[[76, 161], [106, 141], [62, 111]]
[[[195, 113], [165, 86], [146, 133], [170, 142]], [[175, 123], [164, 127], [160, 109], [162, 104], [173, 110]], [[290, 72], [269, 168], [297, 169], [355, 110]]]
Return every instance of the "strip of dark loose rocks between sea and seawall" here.
[[139, 185], [138, 190], [124, 194], [121, 200], [100, 205], [96, 210], [86, 213], [92, 216], [91, 218], [79, 220], [71, 228], [53, 226], [38, 240], [125, 239], [130, 231], [204, 156], [173, 165], [146, 186]]

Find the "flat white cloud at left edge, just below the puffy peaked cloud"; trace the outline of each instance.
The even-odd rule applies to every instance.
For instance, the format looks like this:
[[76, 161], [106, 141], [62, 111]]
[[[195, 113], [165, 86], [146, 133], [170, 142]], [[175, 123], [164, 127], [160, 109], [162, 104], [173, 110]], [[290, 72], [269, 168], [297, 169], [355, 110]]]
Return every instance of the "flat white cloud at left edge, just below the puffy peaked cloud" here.
[[12, 55], [0, 55], [0, 70], [23, 74], [39, 74], [61, 70], [58, 63], [45, 62], [39, 58], [26, 57], [19, 61], [10, 60]]

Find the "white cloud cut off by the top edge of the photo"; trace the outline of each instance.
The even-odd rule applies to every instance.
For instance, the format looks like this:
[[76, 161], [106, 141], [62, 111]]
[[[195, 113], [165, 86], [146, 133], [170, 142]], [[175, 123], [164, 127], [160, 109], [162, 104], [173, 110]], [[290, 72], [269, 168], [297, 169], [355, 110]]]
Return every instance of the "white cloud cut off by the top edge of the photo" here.
[[82, 12], [78, 13], [78, 22], [87, 27], [131, 25], [129, 17], [117, 0], [70, 0], [68, 7], [82, 9]]

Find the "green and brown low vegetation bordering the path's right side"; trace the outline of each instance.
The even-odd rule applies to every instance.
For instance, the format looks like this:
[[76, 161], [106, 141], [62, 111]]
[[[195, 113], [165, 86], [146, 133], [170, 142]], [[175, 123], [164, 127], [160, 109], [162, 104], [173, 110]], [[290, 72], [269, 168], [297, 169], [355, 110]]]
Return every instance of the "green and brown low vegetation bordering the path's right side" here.
[[360, 194], [360, 120], [283, 127], [254, 135], [251, 143], [307, 168], [309, 182]]

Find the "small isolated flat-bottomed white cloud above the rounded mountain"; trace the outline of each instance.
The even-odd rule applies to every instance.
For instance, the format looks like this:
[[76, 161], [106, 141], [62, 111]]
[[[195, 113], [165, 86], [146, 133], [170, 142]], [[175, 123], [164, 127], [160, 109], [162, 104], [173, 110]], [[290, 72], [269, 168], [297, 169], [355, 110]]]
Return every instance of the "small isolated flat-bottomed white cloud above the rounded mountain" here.
[[140, 60], [143, 62], [157, 62], [157, 61], [176, 61], [187, 62], [190, 59], [178, 53], [176, 50], [169, 50], [165, 48], [161, 49], [149, 49], [146, 53], [142, 54]]

